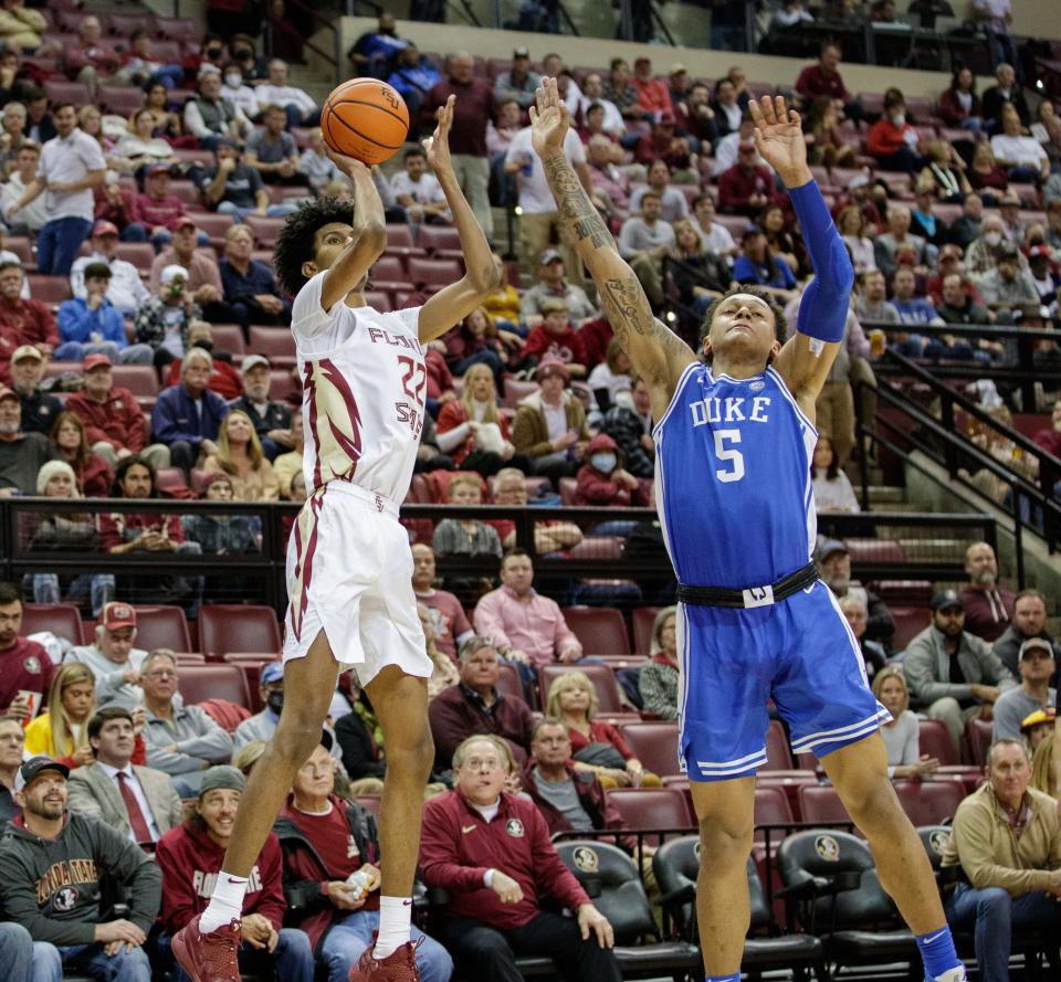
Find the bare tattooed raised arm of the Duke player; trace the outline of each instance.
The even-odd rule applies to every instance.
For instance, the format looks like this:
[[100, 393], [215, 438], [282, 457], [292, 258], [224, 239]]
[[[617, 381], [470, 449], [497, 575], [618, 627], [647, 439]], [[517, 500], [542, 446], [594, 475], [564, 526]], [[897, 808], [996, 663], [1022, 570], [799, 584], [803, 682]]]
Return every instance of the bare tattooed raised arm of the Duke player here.
[[544, 78], [530, 107], [532, 142], [542, 158], [549, 190], [556, 199], [568, 240], [589, 270], [611, 329], [652, 393], [652, 412], [660, 419], [686, 366], [696, 360], [692, 349], [652, 316], [648, 297], [586, 189], [564, 155], [570, 113], [556, 88]]

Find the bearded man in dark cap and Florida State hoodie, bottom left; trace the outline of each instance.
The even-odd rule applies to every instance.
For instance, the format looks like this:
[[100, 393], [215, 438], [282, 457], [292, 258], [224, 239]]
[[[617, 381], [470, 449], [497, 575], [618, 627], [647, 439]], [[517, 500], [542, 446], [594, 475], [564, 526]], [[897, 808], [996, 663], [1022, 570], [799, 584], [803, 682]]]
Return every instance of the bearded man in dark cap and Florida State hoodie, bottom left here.
[[[0, 905], [46, 942], [35, 947], [34, 979], [59, 980], [67, 968], [99, 982], [150, 982], [143, 946], [161, 902], [161, 874], [122, 833], [67, 812], [69, 774], [48, 757], [19, 769], [22, 815], [0, 838]], [[125, 917], [101, 920], [105, 877], [120, 888]]]

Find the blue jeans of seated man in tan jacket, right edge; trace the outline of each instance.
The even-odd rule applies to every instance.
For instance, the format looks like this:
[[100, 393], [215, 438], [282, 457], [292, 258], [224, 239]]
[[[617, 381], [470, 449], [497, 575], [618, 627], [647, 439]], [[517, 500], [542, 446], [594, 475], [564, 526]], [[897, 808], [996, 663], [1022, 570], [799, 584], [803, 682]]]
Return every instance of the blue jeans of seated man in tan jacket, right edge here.
[[1041, 890], [1011, 897], [1001, 887], [978, 890], [963, 883], [947, 898], [945, 909], [952, 930], [974, 930], [984, 982], [1009, 982], [1013, 928], [1061, 930], [1061, 902]]

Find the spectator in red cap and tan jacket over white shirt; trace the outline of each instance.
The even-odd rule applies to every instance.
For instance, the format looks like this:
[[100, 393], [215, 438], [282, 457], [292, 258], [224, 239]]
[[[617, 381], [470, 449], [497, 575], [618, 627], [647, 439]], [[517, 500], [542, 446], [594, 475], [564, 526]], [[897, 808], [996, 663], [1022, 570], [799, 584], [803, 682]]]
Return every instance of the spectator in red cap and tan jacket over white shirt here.
[[586, 410], [567, 388], [571, 377], [563, 362], [544, 361], [536, 377], [540, 389], [521, 401], [512, 442], [517, 451], [534, 458], [536, 474], [557, 479], [572, 476], [590, 440]]

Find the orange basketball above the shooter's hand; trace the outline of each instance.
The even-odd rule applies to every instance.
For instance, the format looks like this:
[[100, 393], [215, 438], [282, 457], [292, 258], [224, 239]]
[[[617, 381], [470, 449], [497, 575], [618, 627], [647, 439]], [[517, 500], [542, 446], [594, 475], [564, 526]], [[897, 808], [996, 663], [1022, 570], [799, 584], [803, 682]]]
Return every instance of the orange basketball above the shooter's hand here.
[[398, 152], [409, 133], [406, 101], [378, 78], [351, 78], [333, 89], [321, 110], [324, 141], [371, 167]]

